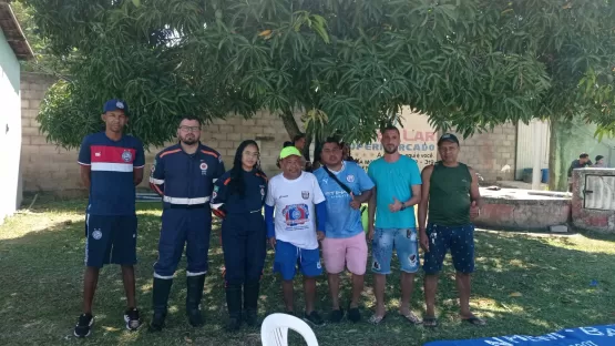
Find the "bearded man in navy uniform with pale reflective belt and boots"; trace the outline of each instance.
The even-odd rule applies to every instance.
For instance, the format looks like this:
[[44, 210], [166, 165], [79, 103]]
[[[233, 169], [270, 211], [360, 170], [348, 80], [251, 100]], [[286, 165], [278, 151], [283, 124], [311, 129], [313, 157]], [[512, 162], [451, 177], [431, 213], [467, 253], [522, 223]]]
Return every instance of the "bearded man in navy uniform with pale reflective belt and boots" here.
[[212, 231], [209, 200], [225, 170], [222, 156], [203, 145], [201, 121], [186, 116], [177, 129], [180, 143], [156, 155], [150, 185], [163, 197], [158, 261], [154, 264], [152, 330], [162, 330], [173, 275], [186, 245], [186, 314], [192, 326], [203, 325], [201, 298]]

